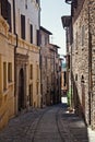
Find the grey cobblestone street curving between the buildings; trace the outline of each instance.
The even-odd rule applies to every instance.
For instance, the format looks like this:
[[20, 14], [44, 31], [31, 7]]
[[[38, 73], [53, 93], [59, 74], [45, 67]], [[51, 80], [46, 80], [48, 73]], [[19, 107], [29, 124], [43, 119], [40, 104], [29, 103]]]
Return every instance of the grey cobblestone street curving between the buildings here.
[[0, 142], [95, 142], [95, 132], [66, 105], [29, 109], [10, 120]]

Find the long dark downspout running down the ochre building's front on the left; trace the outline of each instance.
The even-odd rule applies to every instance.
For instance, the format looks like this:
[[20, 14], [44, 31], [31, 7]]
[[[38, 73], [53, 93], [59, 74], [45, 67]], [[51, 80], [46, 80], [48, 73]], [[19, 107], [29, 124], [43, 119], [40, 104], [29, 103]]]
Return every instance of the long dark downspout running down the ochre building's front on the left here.
[[[16, 34], [16, 31], [15, 31], [15, 0], [13, 0], [13, 27], [14, 27], [14, 35], [16, 37], [16, 43], [15, 43], [15, 46], [14, 46], [14, 104], [16, 107], [16, 48], [17, 48], [17, 34]], [[16, 114], [16, 108], [15, 109], [15, 114]]]

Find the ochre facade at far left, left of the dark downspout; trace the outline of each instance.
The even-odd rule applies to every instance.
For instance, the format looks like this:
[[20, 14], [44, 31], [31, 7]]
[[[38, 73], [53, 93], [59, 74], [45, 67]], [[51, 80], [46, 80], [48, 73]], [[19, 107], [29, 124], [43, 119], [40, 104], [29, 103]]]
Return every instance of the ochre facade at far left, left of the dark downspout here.
[[9, 13], [7, 1], [0, 1], [0, 129], [14, 116], [14, 46], [10, 40]]

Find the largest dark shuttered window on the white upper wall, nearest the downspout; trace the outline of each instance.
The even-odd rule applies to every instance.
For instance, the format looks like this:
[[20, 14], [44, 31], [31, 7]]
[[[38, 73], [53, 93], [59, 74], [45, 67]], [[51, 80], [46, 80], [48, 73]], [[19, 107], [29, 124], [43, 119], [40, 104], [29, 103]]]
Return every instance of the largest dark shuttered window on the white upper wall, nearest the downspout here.
[[21, 37], [25, 39], [25, 15], [21, 15]]

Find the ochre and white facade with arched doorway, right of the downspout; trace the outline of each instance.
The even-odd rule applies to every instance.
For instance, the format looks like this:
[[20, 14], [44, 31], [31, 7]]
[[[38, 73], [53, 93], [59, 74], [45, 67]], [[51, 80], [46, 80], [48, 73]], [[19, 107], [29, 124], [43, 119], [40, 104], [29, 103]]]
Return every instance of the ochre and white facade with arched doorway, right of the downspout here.
[[15, 110], [40, 107], [39, 1], [15, 1]]

